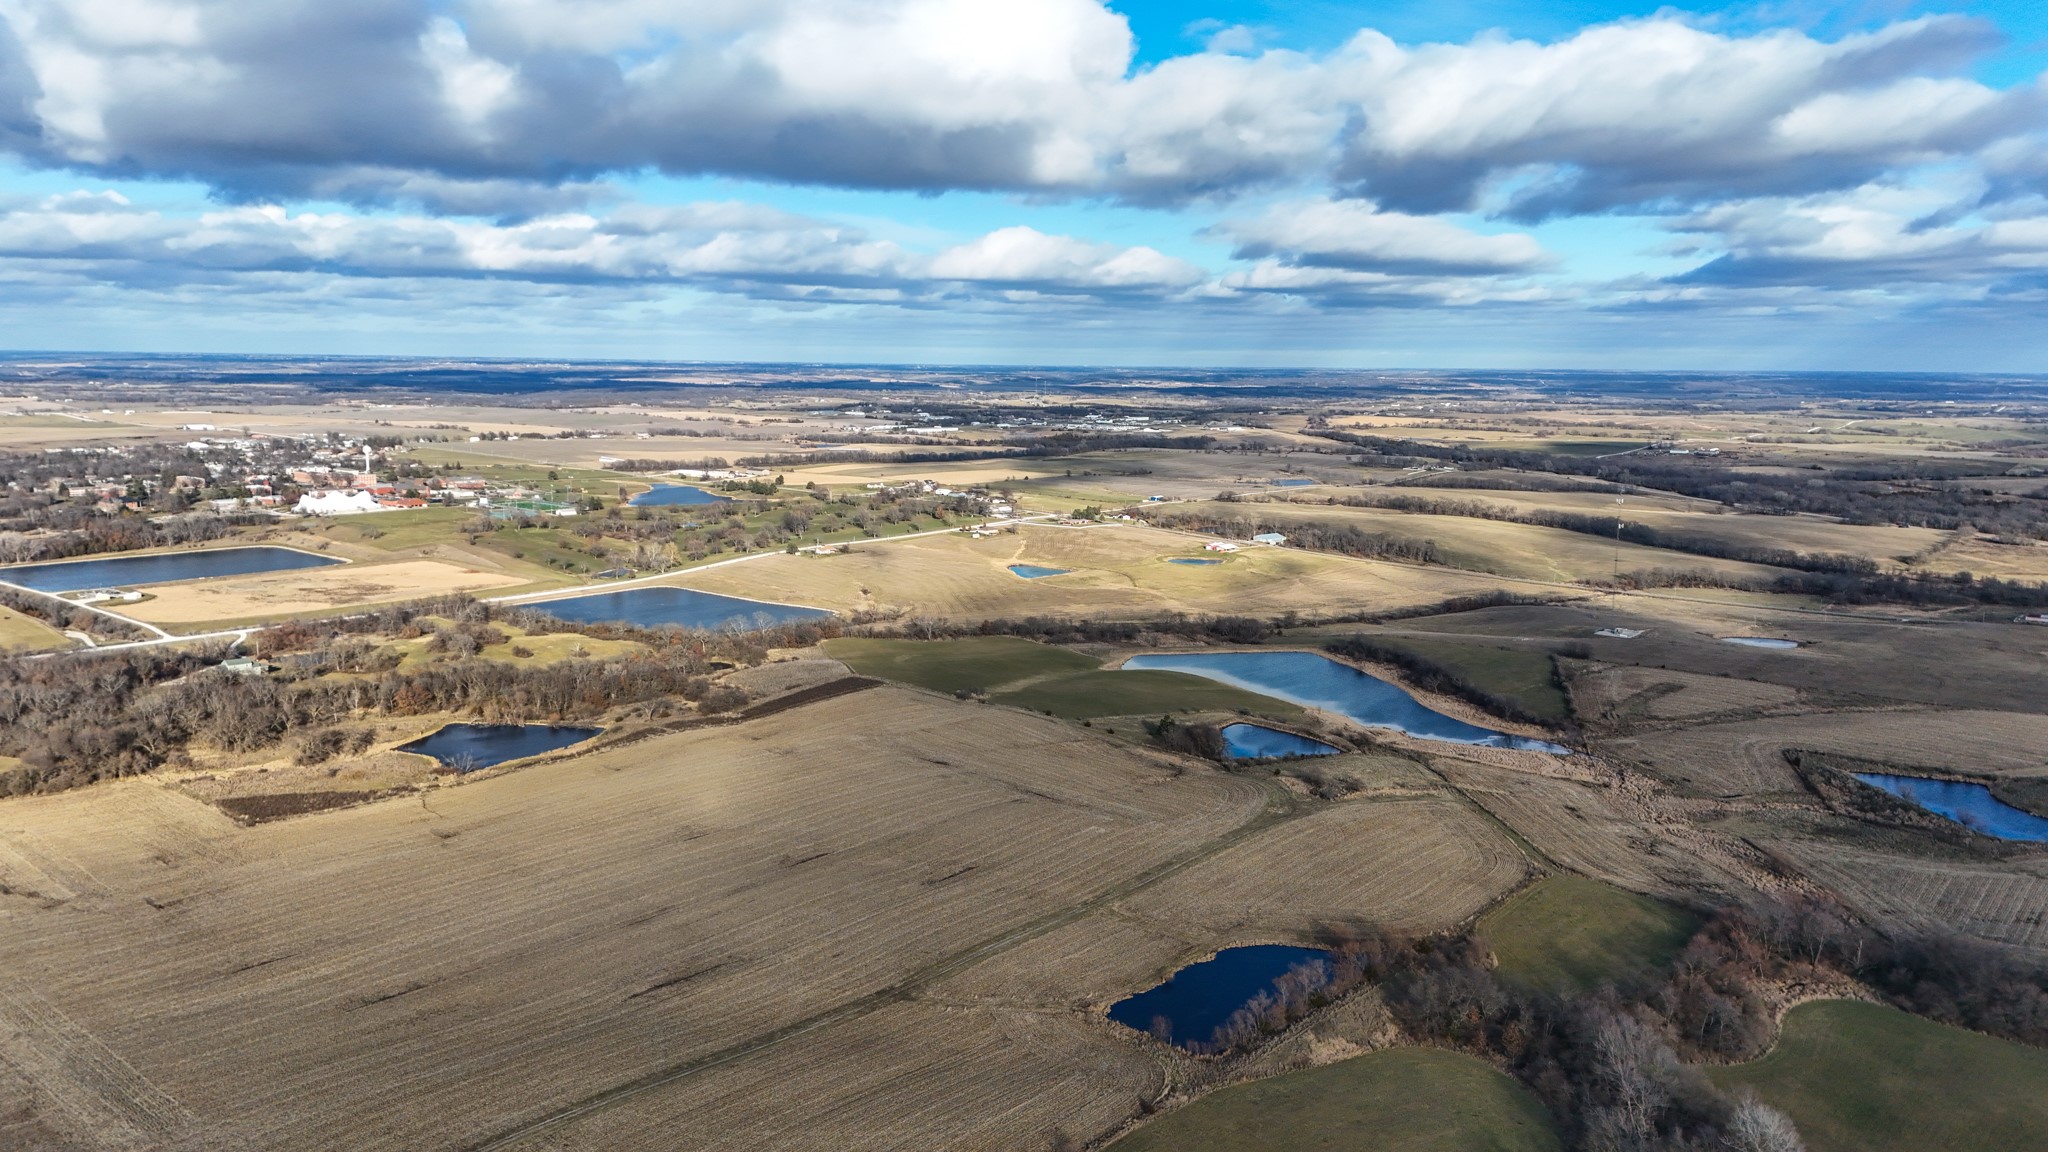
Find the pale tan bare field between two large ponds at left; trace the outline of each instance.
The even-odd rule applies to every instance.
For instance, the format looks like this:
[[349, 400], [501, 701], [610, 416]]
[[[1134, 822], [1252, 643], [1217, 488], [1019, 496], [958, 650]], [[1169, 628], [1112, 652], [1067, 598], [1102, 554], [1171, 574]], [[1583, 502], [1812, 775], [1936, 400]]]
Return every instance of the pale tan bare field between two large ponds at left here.
[[446, 592], [479, 592], [512, 584], [526, 584], [526, 578], [438, 560], [399, 560], [160, 584], [150, 588], [150, 601], [123, 605], [123, 611], [150, 623], [236, 621], [414, 601]]

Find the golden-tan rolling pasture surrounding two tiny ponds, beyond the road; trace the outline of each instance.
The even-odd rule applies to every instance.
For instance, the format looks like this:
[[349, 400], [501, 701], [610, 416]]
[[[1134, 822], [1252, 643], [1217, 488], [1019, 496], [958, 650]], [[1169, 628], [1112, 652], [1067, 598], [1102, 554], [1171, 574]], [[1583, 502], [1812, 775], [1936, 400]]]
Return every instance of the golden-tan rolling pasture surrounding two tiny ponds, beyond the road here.
[[[1137, 527], [1026, 527], [987, 539], [862, 541], [848, 556], [776, 553], [686, 582], [733, 596], [950, 619], [1169, 611], [1278, 615], [1288, 609], [1313, 615], [1419, 605], [1497, 586], [1460, 572], [1276, 547], [1247, 547], [1212, 566], [1167, 564], [1169, 556], [1200, 556], [1200, 541]], [[1067, 568], [1069, 574], [1024, 580], [1008, 564]]]

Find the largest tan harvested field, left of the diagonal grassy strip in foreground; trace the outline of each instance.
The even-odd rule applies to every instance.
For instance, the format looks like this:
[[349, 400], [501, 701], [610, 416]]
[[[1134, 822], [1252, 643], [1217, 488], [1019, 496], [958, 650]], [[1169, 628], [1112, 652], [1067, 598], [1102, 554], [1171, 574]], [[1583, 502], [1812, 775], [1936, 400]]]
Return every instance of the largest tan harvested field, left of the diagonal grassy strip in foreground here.
[[[475, 1144], [881, 1009], [1266, 795], [881, 689], [256, 828], [150, 781], [10, 799], [0, 1066], [29, 1072], [0, 1115], [49, 1148]], [[635, 1107], [612, 1146], [676, 1144], [631, 1136]], [[776, 1107], [758, 1123], [836, 1123], [827, 1097]]]

